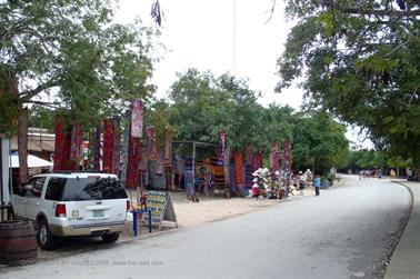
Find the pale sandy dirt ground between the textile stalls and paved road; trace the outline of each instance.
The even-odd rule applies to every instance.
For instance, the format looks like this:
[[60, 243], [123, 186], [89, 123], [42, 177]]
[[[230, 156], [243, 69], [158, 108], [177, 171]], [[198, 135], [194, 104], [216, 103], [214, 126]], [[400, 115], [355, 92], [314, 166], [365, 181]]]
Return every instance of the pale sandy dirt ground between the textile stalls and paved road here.
[[[212, 222], [231, 218], [234, 216], [246, 215], [251, 211], [260, 210], [267, 207], [279, 205], [281, 202], [290, 202], [294, 199], [313, 195], [312, 189], [306, 189], [300, 196], [291, 196], [283, 200], [269, 200], [256, 198], [232, 198], [224, 199], [221, 195], [212, 197], [199, 196], [199, 202], [192, 202], [187, 199], [184, 192], [170, 192], [173, 208], [177, 215], [179, 228], [187, 228], [200, 223]], [[136, 201], [136, 192], [131, 193], [132, 200]], [[161, 231], [174, 229], [172, 222], [163, 222]], [[158, 228], [153, 227], [153, 231], [149, 233], [147, 223], [139, 226], [139, 235], [137, 238], [143, 239], [158, 233]], [[117, 245], [129, 243], [133, 237], [132, 222], [129, 222], [126, 231], [120, 235]], [[63, 240], [54, 250], [44, 251], [38, 249], [38, 261], [53, 259], [57, 257], [66, 257], [74, 253], [87, 252], [94, 249], [112, 249], [113, 245], [103, 243], [100, 238], [69, 238]], [[0, 266], [1, 267], [1, 266]]]

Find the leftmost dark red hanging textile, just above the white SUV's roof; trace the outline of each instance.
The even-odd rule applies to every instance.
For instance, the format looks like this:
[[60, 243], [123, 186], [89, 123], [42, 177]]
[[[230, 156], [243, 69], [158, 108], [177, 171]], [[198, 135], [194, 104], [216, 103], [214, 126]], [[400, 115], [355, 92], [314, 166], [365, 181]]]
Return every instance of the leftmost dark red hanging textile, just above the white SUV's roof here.
[[53, 170], [70, 170], [71, 133], [62, 118], [56, 119], [56, 152]]

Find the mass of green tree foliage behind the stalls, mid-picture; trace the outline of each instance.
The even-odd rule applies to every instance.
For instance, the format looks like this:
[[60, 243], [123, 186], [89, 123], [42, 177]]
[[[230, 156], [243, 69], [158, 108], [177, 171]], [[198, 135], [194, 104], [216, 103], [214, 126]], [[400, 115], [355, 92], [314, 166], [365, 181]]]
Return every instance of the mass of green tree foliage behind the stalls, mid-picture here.
[[284, 140], [291, 140], [296, 169], [312, 169], [314, 158], [318, 172], [347, 163], [342, 126], [327, 114], [293, 113], [289, 107], [274, 104], [264, 108], [244, 80], [230, 74], [214, 78], [190, 69], [172, 84], [171, 101], [170, 122], [180, 140], [218, 145], [223, 128], [231, 148], [250, 147], [266, 153], [266, 159], [273, 142], [281, 148]]

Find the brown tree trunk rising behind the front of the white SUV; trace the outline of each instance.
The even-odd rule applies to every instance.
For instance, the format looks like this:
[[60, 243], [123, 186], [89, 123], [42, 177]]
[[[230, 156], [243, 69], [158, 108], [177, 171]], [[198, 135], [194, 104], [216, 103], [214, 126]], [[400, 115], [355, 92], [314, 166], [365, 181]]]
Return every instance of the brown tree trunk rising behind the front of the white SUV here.
[[28, 172], [28, 109], [22, 109], [18, 120], [19, 179], [27, 181]]

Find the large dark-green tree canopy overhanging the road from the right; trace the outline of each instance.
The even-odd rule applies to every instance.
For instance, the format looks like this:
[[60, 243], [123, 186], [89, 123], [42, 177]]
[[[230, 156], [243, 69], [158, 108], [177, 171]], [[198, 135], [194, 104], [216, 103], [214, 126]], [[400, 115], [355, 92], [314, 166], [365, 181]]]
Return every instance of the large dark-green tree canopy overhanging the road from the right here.
[[278, 60], [277, 90], [304, 77], [311, 108], [368, 128], [381, 149], [420, 158], [420, 3], [286, 2], [299, 21]]

